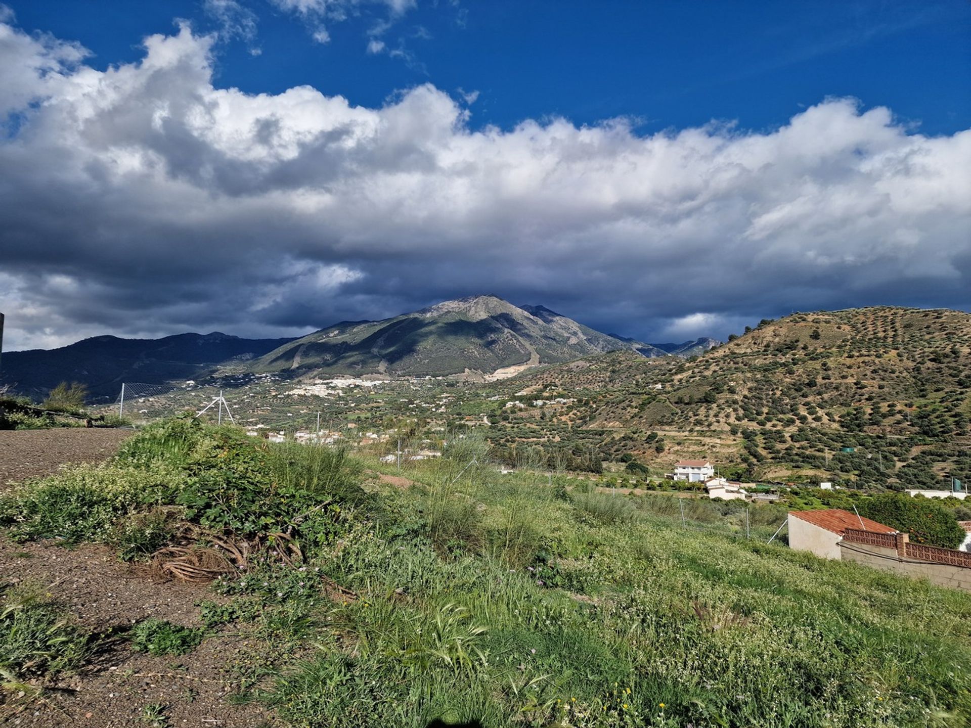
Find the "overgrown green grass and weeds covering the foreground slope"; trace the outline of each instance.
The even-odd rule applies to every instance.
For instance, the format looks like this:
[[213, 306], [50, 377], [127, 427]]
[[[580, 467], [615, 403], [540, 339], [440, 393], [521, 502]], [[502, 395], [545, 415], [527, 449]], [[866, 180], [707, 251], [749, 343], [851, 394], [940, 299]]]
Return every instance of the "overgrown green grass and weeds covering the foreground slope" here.
[[[235, 625], [241, 695], [291, 725], [969, 725], [971, 595], [766, 545], [784, 509], [750, 509], [749, 540], [734, 504], [501, 476], [464, 459], [476, 443], [412, 467], [407, 490], [362, 489], [344, 452], [160, 430], [129, 441], [108, 505], [66, 533], [110, 541], [166, 498], [252, 543], [288, 528], [302, 561], [257, 555], [215, 584], [229, 601], [201, 605], [206, 627], [134, 635], [178, 653]], [[117, 498], [122, 472], [162, 464], [177, 488]], [[92, 472], [77, 482], [97, 505]], [[16, 491], [8, 528], [64, 531], [75, 502], [41, 495], [71, 477]]]

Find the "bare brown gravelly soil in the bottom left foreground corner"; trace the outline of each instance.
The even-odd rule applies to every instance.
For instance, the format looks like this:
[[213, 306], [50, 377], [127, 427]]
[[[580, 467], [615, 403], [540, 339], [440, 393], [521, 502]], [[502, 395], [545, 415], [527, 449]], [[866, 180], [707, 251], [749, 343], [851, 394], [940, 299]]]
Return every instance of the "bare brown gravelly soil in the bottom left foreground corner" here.
[[[12, 544], [0, 539], [0, 580], [29, 579], [45, 585], [79, 623], [97, 631], [123, 632], [154, 616], [199, 626], [196, 602], [218, 596], [205, 586], [152, 583], [134, 578], [105, 546], [68, 550], [50, 544]], [[233, 705], [229, 667], [251, 660], [244, 638], [231, 628], [207, 638], [188, 654], [152, 657], [124, 639], [105, 645], [77, 676], [62, 678], [43, 700], [0, 705], [0, 725], [30, 728], [128, 728], [151, 726], [147, 706], [162, 706], [169, 728], [276, 726], [255, 705]]]

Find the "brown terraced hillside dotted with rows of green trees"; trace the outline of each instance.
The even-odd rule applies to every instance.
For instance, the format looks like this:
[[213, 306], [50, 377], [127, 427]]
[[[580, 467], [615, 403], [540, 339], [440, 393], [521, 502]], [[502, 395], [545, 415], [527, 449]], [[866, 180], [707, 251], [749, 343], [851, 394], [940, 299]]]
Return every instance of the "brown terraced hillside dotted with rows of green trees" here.
[[696, 359], [618, 352], [510, 383], [534, 399], [579, 396], [542, 414], [602, 432], [608, 458], [633, 452], [664, 467], [703, 456], [748, 477], [891, 487], [971, 476], [971, 315], [961, 312], [793, 314]]

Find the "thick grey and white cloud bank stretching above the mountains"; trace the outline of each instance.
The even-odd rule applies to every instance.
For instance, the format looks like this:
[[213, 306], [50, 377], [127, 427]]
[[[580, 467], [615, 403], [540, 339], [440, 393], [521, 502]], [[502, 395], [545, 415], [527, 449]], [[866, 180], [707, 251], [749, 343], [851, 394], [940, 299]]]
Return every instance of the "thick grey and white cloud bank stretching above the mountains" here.
[[220, 88], [215, 38], [187, 24], [99, 71], [6, 19], [8, 348], [295, 335], [481, 292], [642, 340], [967, 305], [971, 130], [926, 137], [845, 98], [756, 131], [477, 129], [431, 84], [373, 109]]

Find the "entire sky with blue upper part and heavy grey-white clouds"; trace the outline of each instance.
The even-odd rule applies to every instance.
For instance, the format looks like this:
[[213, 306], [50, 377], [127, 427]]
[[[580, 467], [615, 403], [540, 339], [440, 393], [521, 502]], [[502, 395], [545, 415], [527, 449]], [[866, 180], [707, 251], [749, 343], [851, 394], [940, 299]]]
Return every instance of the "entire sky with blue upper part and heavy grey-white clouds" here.
[[971, 309], [965, 0], [6, 0], [4, 346]]

